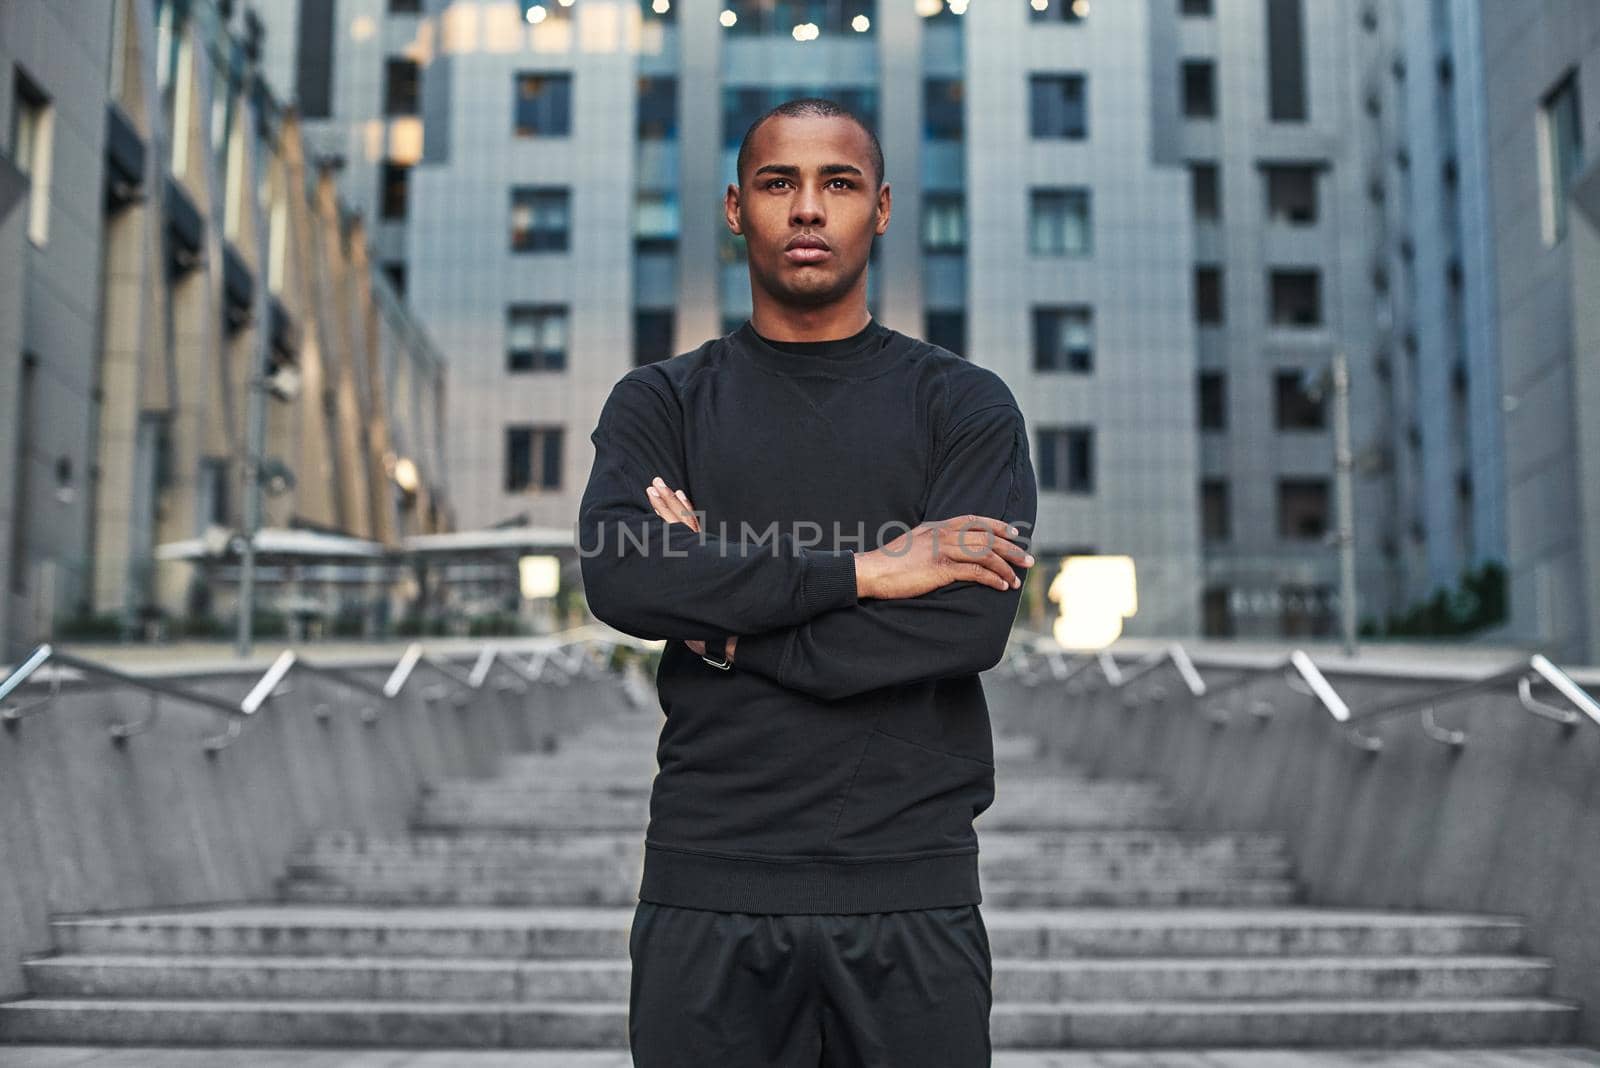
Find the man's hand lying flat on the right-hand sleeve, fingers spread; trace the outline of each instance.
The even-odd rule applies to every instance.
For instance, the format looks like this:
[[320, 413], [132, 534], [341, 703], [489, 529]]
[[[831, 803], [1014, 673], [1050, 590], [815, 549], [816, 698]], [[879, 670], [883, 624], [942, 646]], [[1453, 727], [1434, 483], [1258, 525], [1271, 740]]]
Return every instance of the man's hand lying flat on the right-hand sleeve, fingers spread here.
[[1008, 540], [1018, 536], [1014, 526], [984, 515], [930, 520], [856, 555], [856, 596], [922, 596], [962, 580], [1014, 590], [1022, 585], [1016, 568], [1034, 566], [1034, 556]]

